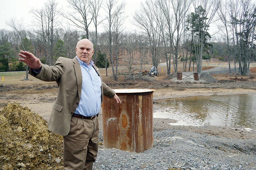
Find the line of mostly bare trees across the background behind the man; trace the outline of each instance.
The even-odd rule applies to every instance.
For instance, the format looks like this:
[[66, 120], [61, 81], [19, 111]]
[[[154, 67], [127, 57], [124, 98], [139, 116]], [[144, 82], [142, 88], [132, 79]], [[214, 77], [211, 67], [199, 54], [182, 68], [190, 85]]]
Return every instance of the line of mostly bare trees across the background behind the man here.
[[[30, 51], [42, 63], [53, 65], [59, 57], [74, 58], [76, 43], [82, 38], [93, 42], [96, 66], [106, 68], [108, 74], [111, 65], [114, 80], [118, 80], [118, 62], [124, 53], [129, 79], [135, 76], [135, 52], [140, 56], [140, 77], [144, 64], [150, 62], [157, 69], [161, 61], [166, 62], [167, 74], [171, 66], [177, 73], [179, 62], [183, 71], [191, 70], [193, 63], [201, 73], [202, 61], [214, 56], [228, 60], [230, 75], [232, 62], [235, 75], [248, 75], [255, 60], [256, 7], [250, 0], [148, 0], [132, 14], [136, 31], [125, 30], [124, 2], [67, 1], [68, 12], [61, 12], [54, 0], [31, 10], [33, 29], [15, 19], [7, 21], [12, 29], [0, 30], [0, 71], [26, 69], [28, 79], [28, 67], [17, 61], [19, 50]], [[63, 19], [70, 25], [63, 26]], [[218, 27], [219, 43], [212, 42], [209, 30], [213, 24]], [[104, 28], [101, 31], [100, 26]]]

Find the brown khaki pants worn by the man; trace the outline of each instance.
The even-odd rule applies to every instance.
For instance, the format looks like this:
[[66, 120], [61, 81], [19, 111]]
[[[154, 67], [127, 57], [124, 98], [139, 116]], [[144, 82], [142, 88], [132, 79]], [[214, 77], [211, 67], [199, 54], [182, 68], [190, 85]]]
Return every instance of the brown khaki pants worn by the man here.
[[70, 131], [63, 136], [64, 169], [92, 170], [99, 143], [99, 124], [94, 119], [72, 117]]

